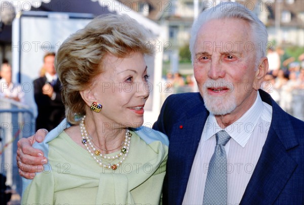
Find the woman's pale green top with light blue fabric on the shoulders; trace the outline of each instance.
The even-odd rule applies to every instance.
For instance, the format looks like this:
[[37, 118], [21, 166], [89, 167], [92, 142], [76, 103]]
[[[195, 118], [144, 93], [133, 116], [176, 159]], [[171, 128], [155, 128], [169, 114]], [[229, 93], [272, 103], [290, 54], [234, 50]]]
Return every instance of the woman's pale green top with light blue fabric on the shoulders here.
[[44, 149], [49, 162], [33, 180], [24, 180], [21, 204], [160, 203], [168, 154], [165, 135], [146, 127], [133, 130], [129, 155], [113, 171], [100, 167], [72, 141], [63, 132], [64, 125], [66, 121], [37, 146]]

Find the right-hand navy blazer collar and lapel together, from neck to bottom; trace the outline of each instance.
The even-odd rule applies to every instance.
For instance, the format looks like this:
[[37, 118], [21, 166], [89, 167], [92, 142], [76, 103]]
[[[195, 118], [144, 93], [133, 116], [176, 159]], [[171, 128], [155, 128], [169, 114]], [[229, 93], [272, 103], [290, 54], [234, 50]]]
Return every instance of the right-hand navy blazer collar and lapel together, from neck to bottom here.
[[[287, 114], [273, 101], [267, 140], [240, 204], [273, 204], [297, 167], [288, 150], [298, 141]], [[288, 138], [288, 140], [287, 140]]]

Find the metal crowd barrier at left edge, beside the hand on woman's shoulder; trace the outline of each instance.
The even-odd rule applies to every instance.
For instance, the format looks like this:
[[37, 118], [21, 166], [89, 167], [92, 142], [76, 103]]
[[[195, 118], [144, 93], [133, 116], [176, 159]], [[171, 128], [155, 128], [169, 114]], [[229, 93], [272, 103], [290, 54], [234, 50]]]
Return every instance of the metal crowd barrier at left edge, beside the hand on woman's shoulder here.
[[23, 104], [0, 99], [0, 163], [6, 184], [21, 195], [22, 181], [16, 162], [17, 142], [34, 134], [35, 119], [32, 110]]

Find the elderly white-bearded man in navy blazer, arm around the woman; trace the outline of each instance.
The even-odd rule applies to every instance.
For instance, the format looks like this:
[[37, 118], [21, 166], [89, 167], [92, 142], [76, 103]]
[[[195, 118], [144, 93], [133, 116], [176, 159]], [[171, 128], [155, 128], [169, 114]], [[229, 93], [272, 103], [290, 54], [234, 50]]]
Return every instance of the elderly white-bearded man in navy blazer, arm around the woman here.
[[[194, 22], [200, 93], [169, 96], [154, 125], [170, 139], [163, 204], [304, 203], [304, 122], [259, 90], [267, 35], [251, 11], [231, 2]], [[28, 155], [41, 153], [29, 140], [19, 145], [23, 163], [46, 160]], [[21, 174], [33, 177], [23, 163]]]

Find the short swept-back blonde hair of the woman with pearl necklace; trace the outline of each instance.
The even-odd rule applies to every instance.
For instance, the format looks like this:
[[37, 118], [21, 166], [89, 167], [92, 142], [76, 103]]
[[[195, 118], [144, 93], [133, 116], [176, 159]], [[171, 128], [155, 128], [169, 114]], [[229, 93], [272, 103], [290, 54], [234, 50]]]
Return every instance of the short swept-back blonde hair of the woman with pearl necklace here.
[[70, 35], [60, 46], [55, 68], [62, 83], [65, 114], [71, 124], [75, 116], [85, 114], [85, 102], [80, 91], [90, 87], [94, 77], [102, 73], [106, 55], [125, 58], [139, 52], [153, 55], [150, 32], [127, 15], [102, 15], [94, 18], [84, 29]]

